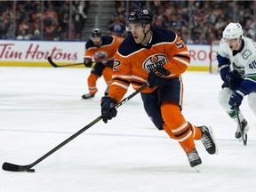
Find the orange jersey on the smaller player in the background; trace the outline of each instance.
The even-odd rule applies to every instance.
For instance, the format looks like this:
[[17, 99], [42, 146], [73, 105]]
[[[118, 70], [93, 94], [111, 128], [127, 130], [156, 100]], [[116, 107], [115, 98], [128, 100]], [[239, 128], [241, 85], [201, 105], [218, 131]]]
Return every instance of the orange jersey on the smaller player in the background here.
[[84, 59], [86, 58], [94, 61], [114, 60], [118, 46], [123, 40], [124, 37], [120, 36], [101, 36], [101, 43], [99, 46], [96, 46], [90, 39], [85, 44]]

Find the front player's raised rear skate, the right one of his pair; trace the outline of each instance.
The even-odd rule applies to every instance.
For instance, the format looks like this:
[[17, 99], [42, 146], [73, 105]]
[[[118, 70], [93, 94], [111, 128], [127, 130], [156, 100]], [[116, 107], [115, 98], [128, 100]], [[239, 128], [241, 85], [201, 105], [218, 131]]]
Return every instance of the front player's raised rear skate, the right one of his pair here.
[[199, 126], [202, 131], [201, 141], [204, 145], [204, 148], [209, 154], [218, 154], [218, 149], [216, 146], [216, 141], [210, 126]]

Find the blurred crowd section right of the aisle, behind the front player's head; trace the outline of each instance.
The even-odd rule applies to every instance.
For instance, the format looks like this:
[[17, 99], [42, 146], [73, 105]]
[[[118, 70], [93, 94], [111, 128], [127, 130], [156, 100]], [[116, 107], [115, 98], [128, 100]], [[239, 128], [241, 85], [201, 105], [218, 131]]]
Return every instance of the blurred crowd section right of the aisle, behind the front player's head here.
[[[129, 1], [129, 12], [138, 7], [151, 10], [154, 25], [172, 29], [187, 44], [211, 44], [231, 21], [243, 26], [244, 36], [256, 36], [254, 1]], [[108, 34], [125, 36], [125, 11], [125, 1], [116, 1]]]

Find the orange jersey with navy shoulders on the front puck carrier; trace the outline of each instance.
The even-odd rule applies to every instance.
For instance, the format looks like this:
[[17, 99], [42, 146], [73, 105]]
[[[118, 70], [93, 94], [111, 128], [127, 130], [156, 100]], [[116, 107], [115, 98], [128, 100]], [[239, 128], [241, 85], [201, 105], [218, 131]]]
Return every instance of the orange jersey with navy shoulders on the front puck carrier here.
[[[168, 78], [180, 76], [190, 63], [188, 48], [171, 30], [152, 27], [152, 39], [149, 44], [136, 44], [132, 34], [127, 36], [116, 52], [113, 67], [112, 85], [108, 96], [117, 102], [122, 100], [132, 84], [137, 90], [147, 84], [148, 72], [156, 66], [163, 66], [170, 71]], [[142, 92], [153, 92], [146, 88]]]

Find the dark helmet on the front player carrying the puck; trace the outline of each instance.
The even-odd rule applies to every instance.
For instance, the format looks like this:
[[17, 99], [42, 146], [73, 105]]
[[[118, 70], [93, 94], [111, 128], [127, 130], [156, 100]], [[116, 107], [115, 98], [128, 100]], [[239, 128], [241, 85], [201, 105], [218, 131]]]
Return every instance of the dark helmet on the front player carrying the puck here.
[[153, 15], [149, 10], [134, 10], [128, 16], [128, 23], [152, 24]]

